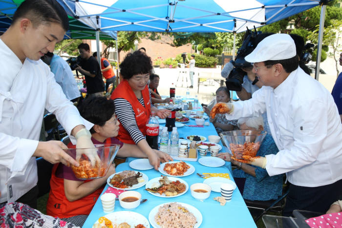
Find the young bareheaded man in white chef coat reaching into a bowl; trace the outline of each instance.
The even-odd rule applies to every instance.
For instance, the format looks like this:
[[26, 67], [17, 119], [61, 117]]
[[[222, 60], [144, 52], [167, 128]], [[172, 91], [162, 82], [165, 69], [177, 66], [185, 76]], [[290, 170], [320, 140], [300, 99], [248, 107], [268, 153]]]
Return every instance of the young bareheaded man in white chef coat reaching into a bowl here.
[[[0, 36], [0, 205], [18, 201], [37, 206], [36, 157], [79, 165], [63, 151], [62, 142], [38, 141], [44, 108], [76, 137], [77, 148], [94, 147], [87, 123], [40, 60], [53, 52], [67, 29], [67, 15], [57, 1], [26, 0]], [[89, 155], [95, 164], [93, 152]]]

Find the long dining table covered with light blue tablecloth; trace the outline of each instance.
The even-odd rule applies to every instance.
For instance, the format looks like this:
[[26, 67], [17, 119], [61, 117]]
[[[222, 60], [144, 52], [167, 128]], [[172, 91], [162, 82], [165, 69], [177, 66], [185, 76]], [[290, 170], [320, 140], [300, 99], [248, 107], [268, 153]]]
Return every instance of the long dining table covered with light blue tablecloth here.
[[[206, 120], [209, 122], [209, 120]], [[194, 120], [190, 120], [187, 124], [195, 125]], [[186, 138], [188, 135], [202, 135], [208, 138], [209, 135], [217, 135], [214, 125], [210, 124], [209, 126], [204, 127], [188, 127], [183, 126], [178, 128], [179, 137]], [[221, 144], [221, 143], [220, 143]], [[222, 144], [221, 144], [222, 145]], [[224, 147], [220, 152], [224, 152]], [[210, 153], [208, 153], [210, 156]], [[129, 161], [134, 160], [134, 158], [128, 158], [127, 162], [120, 164], [116, 167], [116, 171], [123, 171], [123, 170], [131, 170], [132, 168], [129, 167]], [[221, 167], [207, 167], [202, 166], [198, 162], [187, 162], [190, 163], [192, 166], [195, 167], [195, 172], [186, 177], [182, 177], [185, 180], [189, 188], [194, 183], [203, 183], [204, 179], [197, 176], [196, 172], [199, 173], [229, 173], [232, 180], [233, 176], [230, 169], [230, 163], [226, 162], [225, 166]], [[141, 171], [141, 170], [137, 170]], [[161, 173], [154, 170], [142, 170], [145, 173], [149, 180], [160, 177]], [[104, 188], [102, 194], [107, 190], [108, 185]], [[211, 192], [211, 195], [208, 199], [204, 200], [203, 202], [198, 201], [192, 198], [190, 189], [181, 196], [174, 197], [174, 198], [161, 198], [154, 195], [151, 195], [149, 192], [144, 191], [145, 187], [140, 187], [135, 189], [142, 195], [142, 199], [148, 199], [148, 201], [144, 204], [141, 204], [139, 207], [135, 208], [133, 211], [138, 212], [144, 215], [146, 218], [149, 218], [150, 210], [160, 204], [168, 203], [168, 202], [182, 202], [189, 205], [196, 207], [202, 214], [203, 222], [200, 227], [202, 228], [227, 228], [227, 227], [241, 227], [241, 228], [256, 228], [256, 224], [253, 221], [253, 218], [246, 207], [244, 200], [236, 188], [233, 193], [232, 200], [227, 202], [225, 206], [220, 206], [220, 204], [213, 200], [214, 197], [220, 196], [218, 192]], [[120, 206], [119, 202], [115, 203], [114, 211], [122, 211], [125, 210], [123, 207]], [[91, 228], [92, 225], [101, 217], [104, 216], [105, 213], [102, 209], [102, 204], [100, 198], [97, 200], [95, 206], [91, 210], [88, 218], [85, 221], [84, 228]]]

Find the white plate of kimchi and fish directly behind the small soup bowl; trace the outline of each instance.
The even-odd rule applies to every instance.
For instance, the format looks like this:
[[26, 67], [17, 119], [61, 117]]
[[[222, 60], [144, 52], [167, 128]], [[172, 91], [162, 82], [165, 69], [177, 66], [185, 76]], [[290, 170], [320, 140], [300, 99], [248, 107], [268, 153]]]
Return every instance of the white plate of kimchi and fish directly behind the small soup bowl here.
[[171, 198], [185, 194], [188, 189], [188, 184], [180, 178], [161, 176], [150, 180], [145, 190], [154, 196]]

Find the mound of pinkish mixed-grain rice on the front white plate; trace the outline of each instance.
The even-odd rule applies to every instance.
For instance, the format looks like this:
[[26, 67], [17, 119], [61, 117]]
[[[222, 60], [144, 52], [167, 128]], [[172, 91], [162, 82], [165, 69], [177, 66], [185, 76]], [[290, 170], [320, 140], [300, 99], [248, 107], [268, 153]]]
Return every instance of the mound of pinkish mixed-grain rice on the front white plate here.
[[193, 228], [197, 223], [196, 217], [177, 203], [159, 207], [154, 220], [161, 228]]

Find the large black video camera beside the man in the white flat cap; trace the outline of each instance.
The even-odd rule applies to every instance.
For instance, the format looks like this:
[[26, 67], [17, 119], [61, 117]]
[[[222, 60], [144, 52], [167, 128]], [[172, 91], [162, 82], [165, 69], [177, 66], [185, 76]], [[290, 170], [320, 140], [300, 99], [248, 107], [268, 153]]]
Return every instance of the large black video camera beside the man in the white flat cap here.
[[[227, 66], [225, 66], [229, 73], [228, 75], [222, 75], [222, 77], [228, 78], [226, 80], [226, 86], [229, 90], [241, 91], [243, 77], [246, 75], [246, 72], [244, 72], [242, 68], [253, 66], [251, 62], [245, 61], [245, 57], [251, 54], [251, 52], [256, 48], [257, 43], [265, 37], [263, 36], [264, 34], [261, 35], [261, 32], [256, 31], [256, 27], [254, 27], [254, 29], [255, 31], [253, 32], [247, 27], [242, 46], [237, 50], [235, 61], [232, 60]], [[254, 80], [252, 84], [255, 83], [257, 83], [257, 79]]]

